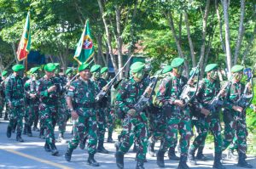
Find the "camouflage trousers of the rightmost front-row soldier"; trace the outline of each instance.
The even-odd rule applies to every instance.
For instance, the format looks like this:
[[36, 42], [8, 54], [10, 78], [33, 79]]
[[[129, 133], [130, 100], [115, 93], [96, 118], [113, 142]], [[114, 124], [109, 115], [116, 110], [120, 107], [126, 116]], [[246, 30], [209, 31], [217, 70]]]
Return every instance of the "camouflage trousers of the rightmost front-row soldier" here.
[[237, 151], [246, 154], [247, 124], [245, 118], [241, 118], [238, 115], [238, 112], [224, 110], [224, 141], [222, 149], [227, 149], [236, 138]]

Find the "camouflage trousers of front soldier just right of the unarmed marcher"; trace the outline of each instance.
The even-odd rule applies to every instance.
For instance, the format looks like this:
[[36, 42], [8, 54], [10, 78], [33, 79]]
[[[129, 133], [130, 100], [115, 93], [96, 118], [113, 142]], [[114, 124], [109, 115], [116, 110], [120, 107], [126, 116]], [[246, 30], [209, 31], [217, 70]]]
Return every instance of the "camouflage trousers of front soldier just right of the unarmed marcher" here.
[[[141, 116], [143, 116], [143, 118]], [[127, 153], [131, 148], [131, 145], [134, 143], [134, 139], [136, 139], [137, 159], [146, 159], [148, 148], [148, 127], [147, 117], [145, 114], [134, 117], [125, 116], [122, 127], [123, 131], [120, 139], [119, 152], [123, 154]]]

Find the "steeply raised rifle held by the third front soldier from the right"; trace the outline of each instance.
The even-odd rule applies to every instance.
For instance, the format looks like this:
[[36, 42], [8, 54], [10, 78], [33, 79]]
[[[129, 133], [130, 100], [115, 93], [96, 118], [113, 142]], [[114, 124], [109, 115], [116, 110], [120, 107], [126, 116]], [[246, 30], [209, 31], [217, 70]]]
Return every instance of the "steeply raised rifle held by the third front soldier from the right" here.
[[189, 95], [190, 92], [192, 92], [192, 89], [194, 87], [190, 87], [190, 82], [195, 78], [195, 75], [197, 73], [199, 73], [199, 70], [200, 70], [200, 65], [201, 65], [201, 60], [202, 60], [202, 57], [201, 59], [199, 60], [199, 62], [197, 63], [195, 69], [194, 69], [194, 72], [192, 73], [192, 75], [189, 77], [189, 81], [187, 82], [187, 84], [185, 84], [185, 86], [183, 87], [183, 92], [181, 93], [180, 95], [180, 99], [183, 100], [183, 104], [184, 106], [186, 106], [187, 104], [189, 104], [189, 102], [195, 98], [195, 94], [197, 92], [197, 89], [198, 89], [198, 82], [199, 82], [199, 76], [197, 77], [197, 84], [196, 84], [196, 89], [195, 89], [195, 93], [193, 93], [192, 96]]

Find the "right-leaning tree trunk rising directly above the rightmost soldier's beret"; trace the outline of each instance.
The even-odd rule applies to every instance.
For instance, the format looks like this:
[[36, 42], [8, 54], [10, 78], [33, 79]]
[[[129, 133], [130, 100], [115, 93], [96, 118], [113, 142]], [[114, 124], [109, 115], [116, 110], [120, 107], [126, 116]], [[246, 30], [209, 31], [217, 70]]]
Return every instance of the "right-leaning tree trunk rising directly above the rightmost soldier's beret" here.
[[238, 55], [239, 55], [240, 48], [241, 48], [243, 32], [244, 32], [244, 27], [243, 27], [243, 19], [244, 19], [244, 13], [245, 13], [244, 8], [245, 8], [245, 0], [241, 0], [241, 15], [240, 15], [238, 36], [237, 36], [237, 41], [236, 41], [236, 51], [235, 51], [235, 55], [234, 55], [234, 65], [236, 65], [236, 63], [237, 63]]

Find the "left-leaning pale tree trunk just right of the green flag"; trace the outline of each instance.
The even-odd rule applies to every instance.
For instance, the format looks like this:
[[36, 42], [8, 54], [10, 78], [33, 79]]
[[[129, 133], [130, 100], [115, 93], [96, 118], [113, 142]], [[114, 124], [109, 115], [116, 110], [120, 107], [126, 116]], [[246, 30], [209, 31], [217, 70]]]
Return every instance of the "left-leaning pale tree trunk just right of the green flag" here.
[[109, 51], [110, 59], [111, 59], [111, 61], [113, 63], [113, 69], [114, 69], [115, 73], [117, 73], [118, 72], [118, 65], [116, 65], [116, 59], [113, 56], [113, 48], [112, 48], [112, 45], [111, 45], [111, 39], [112, 38], [111, 38], [111, 35], [110, 35], [110, 31], [108, 29], [107, 20], [105, 18], [103, 6], [102, 6], [102, 0], [97, 0], [97, 1], [98, 1], [98, 4], [99, 4], [100, 12], [102, 14], [102, 20], [103, 20], [105, 31], [106, 31], [107, 43], [108, 43], [108, 51]]

